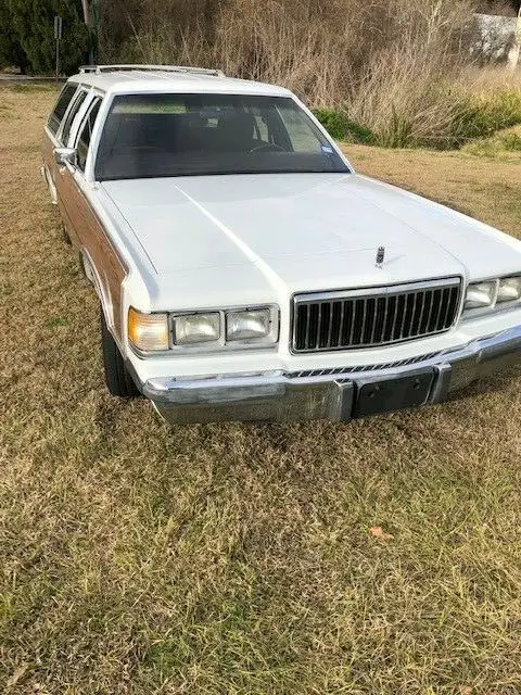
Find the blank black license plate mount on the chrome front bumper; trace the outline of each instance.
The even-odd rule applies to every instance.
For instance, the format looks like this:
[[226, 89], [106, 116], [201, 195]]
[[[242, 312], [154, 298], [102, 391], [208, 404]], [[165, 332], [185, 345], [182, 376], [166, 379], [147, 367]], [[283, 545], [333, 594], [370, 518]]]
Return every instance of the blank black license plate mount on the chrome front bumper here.
[[434, 369], [419, 369], [406, 377], [370, 381], [357, 387], [353, 417], [367, 417], [423, 405], [431, 392]]

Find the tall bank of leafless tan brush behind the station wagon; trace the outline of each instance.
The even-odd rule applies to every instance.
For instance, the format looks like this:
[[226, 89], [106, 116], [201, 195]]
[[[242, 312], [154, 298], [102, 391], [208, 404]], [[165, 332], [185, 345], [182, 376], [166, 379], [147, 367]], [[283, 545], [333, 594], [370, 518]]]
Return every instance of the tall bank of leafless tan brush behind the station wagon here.
[[458, 108], [446, 84], [469, 61], [471, 0], [143, 0], [141, 13], [132, 2], [122, 58], [281, 84], [383, 143], [443, 139]]

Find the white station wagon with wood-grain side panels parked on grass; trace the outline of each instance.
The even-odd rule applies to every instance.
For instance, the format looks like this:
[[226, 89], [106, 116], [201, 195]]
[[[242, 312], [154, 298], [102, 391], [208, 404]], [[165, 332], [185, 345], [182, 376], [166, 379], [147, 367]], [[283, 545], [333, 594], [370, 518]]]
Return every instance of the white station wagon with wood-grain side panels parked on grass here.
[[169, 422], [350, 420], [521, 356], [521, 242], [356, 174], [287, 89], [81, 68], [42, 173], [100, 300], [110, 392]]

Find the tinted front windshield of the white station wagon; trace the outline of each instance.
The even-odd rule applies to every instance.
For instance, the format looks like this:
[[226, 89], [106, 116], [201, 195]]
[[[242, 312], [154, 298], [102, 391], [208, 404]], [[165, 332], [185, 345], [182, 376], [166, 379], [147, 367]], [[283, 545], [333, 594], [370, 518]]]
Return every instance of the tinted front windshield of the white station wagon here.
[[238, 94], [115, 97], [101, 136], [98, 180], [348, 172], [291, 98]]

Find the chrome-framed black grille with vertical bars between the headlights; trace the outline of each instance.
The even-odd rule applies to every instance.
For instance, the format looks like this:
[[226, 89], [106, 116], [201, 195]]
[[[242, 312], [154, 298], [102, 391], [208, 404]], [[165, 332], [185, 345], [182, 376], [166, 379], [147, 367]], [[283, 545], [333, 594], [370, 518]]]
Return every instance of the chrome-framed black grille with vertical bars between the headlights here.
[[369, 290], [300, 294], [293, 299], [294, 352], [376, 348], [448, 330], [461, 280]]

